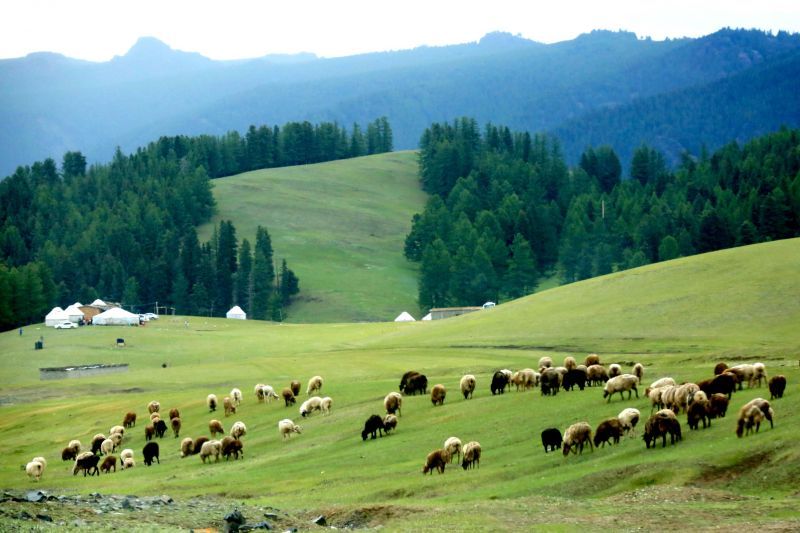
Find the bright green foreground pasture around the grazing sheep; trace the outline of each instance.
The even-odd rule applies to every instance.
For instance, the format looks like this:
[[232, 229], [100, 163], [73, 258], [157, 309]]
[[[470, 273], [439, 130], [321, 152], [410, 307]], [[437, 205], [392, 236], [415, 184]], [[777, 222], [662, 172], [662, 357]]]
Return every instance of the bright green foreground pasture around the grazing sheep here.
[[[30, 326], [22, 337], [4, 333], [0, 487], [169, 494], [180, 501], [205, 495], [243, 505], [247, 516], [271, 505], [309, 518], [325, 513], [338, 526], [403, 530], [618, 528], [620, 510], [630, 502], [636, 513], [625, 527], [796, 530], [798, 272], [800, 239], [794, 239], [650, 265], [440, 322], [297, 325], [189, 318], [187, 328], [182, 318], [164, 318], [143, 328]], [[46, 348], [33, 351], [39, 335]], [[115, 348], [118, 336], [128, 346]], [[646, 383], [665, 375], [704, 379], [719, 360], [761, 360], [771, 375], [786, 375], [789, 386], [773, 402], [774, 429], [762, 427], [743, 439], [734, 435], [736, 412], [754, 397], [768, 398], [764, 388], [737, 392], [728, 416], [709, 429], [690, 432], [681, 414], [684, 439], [676, 446], [647, 450], [637, 438], [581, 456], [545, 455], [538, 442], [542, 429], [563, 431], [578, 420], [594, 427], [627, 406], [646, 417], [648, 401], [640, 391], [638, 399], [607, 403], [597, 388], [556, 397], [536, 391], [492, 396], [491, 373], [534, 367], [542, 355], [560, 361], [588, 351], [625, 368], [641, 361]], [[38, 380], [38, 367], [90, 362], [131, 367], [105, 377]], [[446, 385], [444, 406], [406, 397], [396, 434], [362, 442], [363, 421], [382, 412], [383, 396], [409, 369]], [[465, 372], [478, 378], [470, 401], [458, 394]], [[296, 406], [254, 400], [258, 382], [281, 388], [317, 373], [325, 377], [323, 393], [334, 399], [328, 417], [302, 420]], [[234, 386], [245, 393], [240, 412], [232, 418], [208, 413], [206, 395], [224, 396]], [[152, 399], [164, 409], [180, 408], [181, 436], [207, 435], [212, 416], [226, 429], [243, 420], [245, 459], [210, 465], [197, 457], [180, 459], [178, 441], [167, 437], [159, 442], [160, 465], [100, 478], [70, 474], [61, 448], [72, 438], [88, 443], [128, 410], [139, 413], [140, 423], [126, 446], [141, 460], [141, 419]], [[276, 424], [286, 417], [304, 432], [283, 442]], [[464, 472], [453, 465], [442, 476], [421, 476], [425, 455], [451, 435], [482, 444], [480, 468]], [[40, 454], [50, 465], [35, 485], [19, 468]], [[9, 520], [0, 516], [0, 526], [13, 524]], [[95, 520], [100, 527], [119, 525], [114, 517]], [[158, 524], [157, 517], [142, 520]], [[220, 524], [219, 517], [197, 513], [180, 525]]]

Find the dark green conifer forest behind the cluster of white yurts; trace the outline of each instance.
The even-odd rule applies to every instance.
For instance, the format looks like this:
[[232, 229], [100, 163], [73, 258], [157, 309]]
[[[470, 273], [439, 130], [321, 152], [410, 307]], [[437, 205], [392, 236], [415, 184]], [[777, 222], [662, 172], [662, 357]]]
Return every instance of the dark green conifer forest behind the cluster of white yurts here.
[[392, 149], [380, 118], [362, 133], [335, 123], [252, 126], [242, 137], [162, 137], [108, 164], [81, 152], [19, 167], [0, 182], [0, 329], [38, 322], [55, 305], [95, 298], [159, 302], [183, 314], [224, 316], [233, 304], [252, 318], [281, 320], [299, 279], [273, 264], [271, 239], [254, 244], [230, 221], [200, 243], [211, 219], [210, 178]]

